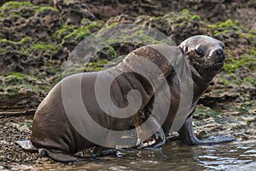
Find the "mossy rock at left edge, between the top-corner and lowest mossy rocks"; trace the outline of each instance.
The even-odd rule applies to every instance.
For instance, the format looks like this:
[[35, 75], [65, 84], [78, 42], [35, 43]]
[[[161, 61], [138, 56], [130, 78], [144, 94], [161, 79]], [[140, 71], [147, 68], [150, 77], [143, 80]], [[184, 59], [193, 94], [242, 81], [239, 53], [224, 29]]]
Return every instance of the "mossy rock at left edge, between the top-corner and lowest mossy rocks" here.
[[33, 41], [32, 37], [24, 37], [19, 42], [0, 39], [0, 55], [4, 56], [0, 59], [1, 73], [19, 71], [41, 77], [49, 62], [53, 63], [51, 66], [60, 67], [61, 61], [67, 59], [67, 52], [60, 44]]

